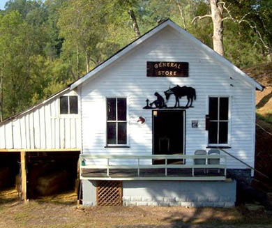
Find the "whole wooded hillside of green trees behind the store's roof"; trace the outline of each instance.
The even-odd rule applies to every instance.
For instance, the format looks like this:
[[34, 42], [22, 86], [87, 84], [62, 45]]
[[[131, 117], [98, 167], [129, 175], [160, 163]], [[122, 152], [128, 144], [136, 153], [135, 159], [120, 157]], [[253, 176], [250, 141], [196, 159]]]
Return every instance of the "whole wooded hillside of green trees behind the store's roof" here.
[[223, 44], [220, 54], [240, 68], [267, 63], [271, 16], [272, 0], [10, 0], [0, 12], [0, 121], [167, 18], [210, 47]]

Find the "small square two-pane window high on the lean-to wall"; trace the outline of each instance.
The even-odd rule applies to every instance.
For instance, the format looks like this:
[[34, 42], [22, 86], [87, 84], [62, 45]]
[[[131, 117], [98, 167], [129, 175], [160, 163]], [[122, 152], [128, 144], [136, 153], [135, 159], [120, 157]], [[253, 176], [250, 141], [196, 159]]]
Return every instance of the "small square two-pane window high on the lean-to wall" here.
[[59, 98], [61, 114], [77, 114], [77, 96], [62, 96]]

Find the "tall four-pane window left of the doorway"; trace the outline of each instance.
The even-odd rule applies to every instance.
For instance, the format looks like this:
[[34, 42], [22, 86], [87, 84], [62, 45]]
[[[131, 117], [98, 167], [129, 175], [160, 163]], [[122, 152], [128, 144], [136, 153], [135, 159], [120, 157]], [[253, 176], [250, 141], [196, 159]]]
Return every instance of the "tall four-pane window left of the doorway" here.
[[107, 98], [107, 145], [127, 144], [126, 98]]

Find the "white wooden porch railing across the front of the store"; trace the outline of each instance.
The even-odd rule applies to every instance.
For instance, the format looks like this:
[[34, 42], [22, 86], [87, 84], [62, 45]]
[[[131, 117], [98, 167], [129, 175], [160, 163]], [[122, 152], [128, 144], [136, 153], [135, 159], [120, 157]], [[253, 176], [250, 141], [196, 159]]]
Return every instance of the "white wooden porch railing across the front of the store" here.
[[[204, 165], [196, 165], [197, 159], [206, 162]], [[111, 164], [114, 160], [119, 160], [118, 164]], [[141, 164], [143, 161], [152, 163], [154, 160], [165, 161], [160, 165]], [[168, 164], [169, 160], [182, 160], [182, 162], [181, 164]], [[208, 164], [208, 160], [220, 162], [211, 165]], [[157, 173], [158, 169], [164, 169], [163, 174]], [[133, 170], [135, 173], [132, 174]], [[169, 170], [172, 172], [169, 173]], [[184, 170], [187, 172], [183, 172]], [[80, 178], [82, 180], [223, 181], [226, 175], [226, 155], [80, 155]]]

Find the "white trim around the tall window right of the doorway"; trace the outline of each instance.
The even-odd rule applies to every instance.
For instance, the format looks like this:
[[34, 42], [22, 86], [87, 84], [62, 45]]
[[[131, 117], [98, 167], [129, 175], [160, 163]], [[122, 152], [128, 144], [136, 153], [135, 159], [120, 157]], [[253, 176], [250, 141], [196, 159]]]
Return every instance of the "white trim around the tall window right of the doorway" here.
[[[232, 144], [231, 132], [232, 132], [232, 96], [224, 95], [209, 95], [206, 99], [206, 114], [209, 115], [209, 98], [229, 98], [229, 110], [228, 110], [228, 125], [227, 125], [227, 144], [209, 144], [209, 130], [206, 130], [206, 144], [208, 146], [228, 146]], [[218, 106], [219, 109], [219, 106]], [[219, 121], [218, 121], [219, 122]], [[222, 121], [223, 122], [223, 121]], [[227, 121], [226, 121], [227, 122]], [[218, 125], [219, 126], [219, 125]], [[218, 135], [219, 137], [219, 135]]]

